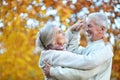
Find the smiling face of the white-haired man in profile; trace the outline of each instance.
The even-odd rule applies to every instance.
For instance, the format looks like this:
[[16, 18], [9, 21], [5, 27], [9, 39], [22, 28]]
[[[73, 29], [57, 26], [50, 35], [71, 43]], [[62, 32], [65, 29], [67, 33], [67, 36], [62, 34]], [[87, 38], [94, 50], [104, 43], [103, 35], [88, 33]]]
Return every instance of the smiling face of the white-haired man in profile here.
[[94, 23], [93, 20], [86, 21], [86, 32], [91, 41], [95, 41], [100, 37], [100, 27]]

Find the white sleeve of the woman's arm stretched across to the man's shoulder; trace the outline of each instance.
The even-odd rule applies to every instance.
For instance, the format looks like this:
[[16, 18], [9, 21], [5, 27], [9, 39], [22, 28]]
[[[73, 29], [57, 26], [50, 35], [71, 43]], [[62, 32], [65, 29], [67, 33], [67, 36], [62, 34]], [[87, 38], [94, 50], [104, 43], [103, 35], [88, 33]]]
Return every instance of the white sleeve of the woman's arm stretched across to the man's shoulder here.
[[88, 55], [77, 55], [68, 51], [55, 51], [50, 64], [75, 69], [91, 69], [112, 57], [113, 53], [110, 48], [91, 51]]

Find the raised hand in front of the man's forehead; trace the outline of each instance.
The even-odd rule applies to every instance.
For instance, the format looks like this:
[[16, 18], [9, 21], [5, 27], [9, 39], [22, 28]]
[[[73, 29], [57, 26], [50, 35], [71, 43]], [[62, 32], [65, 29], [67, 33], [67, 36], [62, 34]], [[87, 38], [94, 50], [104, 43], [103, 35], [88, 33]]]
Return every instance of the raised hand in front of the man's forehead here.
[[83, 19], [79, 19], [75, 24], [70, 28], [71, 31], [79, 32], [82, 27], [85, 27], [86, 16]]

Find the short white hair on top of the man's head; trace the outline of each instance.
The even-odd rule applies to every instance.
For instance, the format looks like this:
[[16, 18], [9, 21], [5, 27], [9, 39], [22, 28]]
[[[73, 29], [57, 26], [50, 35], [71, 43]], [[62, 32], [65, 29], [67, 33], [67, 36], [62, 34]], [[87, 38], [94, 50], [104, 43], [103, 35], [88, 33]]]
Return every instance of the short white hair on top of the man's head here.
[[104, 26], [105, 28], [108, 27], [108, 17], [100, 12], [91, 13], [88, 15], [89, 20], [94, 20], [95, 24], [99, 27]]

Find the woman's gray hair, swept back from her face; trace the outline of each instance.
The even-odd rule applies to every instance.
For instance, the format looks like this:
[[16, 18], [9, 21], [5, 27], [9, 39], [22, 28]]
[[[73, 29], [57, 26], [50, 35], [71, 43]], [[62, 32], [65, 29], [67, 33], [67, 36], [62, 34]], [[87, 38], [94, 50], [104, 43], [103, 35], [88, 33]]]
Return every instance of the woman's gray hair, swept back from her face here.
[[54, 27], [53, 24], [46, 24], [37, 34], [36, 48], [44, 50], [48, 45], [53, 43], [54, 39]]

